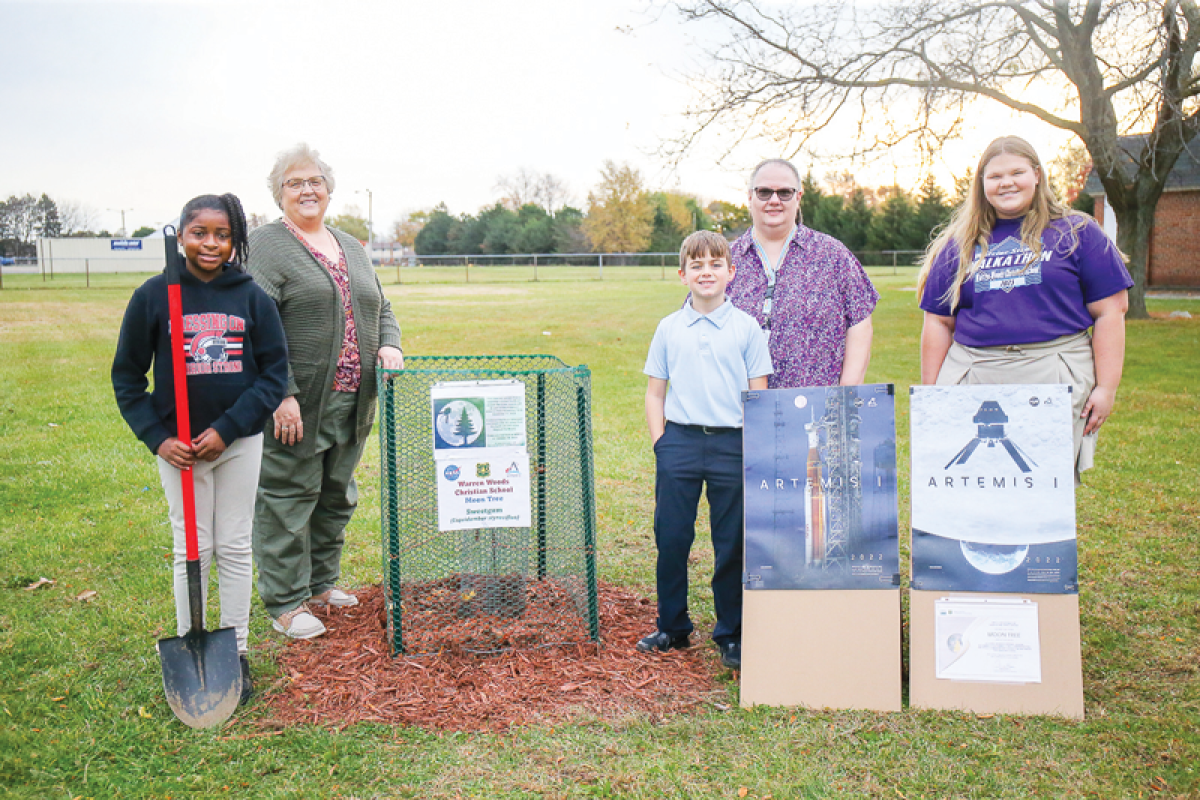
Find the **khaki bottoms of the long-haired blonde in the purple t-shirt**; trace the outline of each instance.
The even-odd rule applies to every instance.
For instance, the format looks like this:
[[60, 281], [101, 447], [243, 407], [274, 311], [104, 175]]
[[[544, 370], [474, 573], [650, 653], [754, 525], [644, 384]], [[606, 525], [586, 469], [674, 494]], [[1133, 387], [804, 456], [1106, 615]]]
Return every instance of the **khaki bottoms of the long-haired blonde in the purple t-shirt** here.
[[1092, 337], [1084, 331], [1034, 344], [970, 348], [955, 342], [937, 373], [938, 386], [958, 384], [1067, 384], [1074, 413], [1075, 479], [1096, 461], [1097, 434], [1084, 435], [1080, 415], [1096, 387]]

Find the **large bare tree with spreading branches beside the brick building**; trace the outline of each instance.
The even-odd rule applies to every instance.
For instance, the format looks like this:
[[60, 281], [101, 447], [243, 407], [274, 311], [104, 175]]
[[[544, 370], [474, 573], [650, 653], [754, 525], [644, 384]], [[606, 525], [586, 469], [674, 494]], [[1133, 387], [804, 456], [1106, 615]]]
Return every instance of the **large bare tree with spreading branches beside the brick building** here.
[[[834, 1], [781, 10], [752, 0], [678, 0], [685, 19], [731, 35], [691, 109], [686, 149], [707, 130], [774, 132], [796, 152], [835, 118], [857, 116], [856, 152], [931, 152], [986, 100], [1070, 131], [1117, 218], [1146, 317], [1154, 207], [1200, 127], [1196, 0]], [[1057, 98], [1042, 103], [1033, 88]], [[1142, 132], [1136, 139], [1122, 134]], [[749, 134], [743, 134], [749, 136]], [[1133, 142], [1134, 144], [1129, 144]]]

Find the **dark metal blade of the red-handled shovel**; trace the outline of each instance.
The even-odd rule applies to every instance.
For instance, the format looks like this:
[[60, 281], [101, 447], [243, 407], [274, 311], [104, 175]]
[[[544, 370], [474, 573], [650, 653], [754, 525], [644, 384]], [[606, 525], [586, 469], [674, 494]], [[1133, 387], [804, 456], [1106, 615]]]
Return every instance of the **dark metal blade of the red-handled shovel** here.
[[238, 632], [192, 628], [158, 639], [162, 687], [167, 704], [191, 728], [211, 728], [228, 720], [241, 697]]

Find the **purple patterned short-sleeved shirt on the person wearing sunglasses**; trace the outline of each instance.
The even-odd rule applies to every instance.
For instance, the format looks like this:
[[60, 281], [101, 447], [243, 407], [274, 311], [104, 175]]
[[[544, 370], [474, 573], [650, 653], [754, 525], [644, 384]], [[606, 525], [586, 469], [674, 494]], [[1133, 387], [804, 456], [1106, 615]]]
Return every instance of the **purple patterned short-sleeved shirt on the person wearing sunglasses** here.
[[[726, 289], [734, 306], [762, 325], [767, 271], [748, 230], [731, 246], [737, 272]], [[875, 311], [880, 293], [845, 245], [803, 224], [787, 242], [775, 276], [768, 347], [770, 389], [836, 386], [846, 331]]]

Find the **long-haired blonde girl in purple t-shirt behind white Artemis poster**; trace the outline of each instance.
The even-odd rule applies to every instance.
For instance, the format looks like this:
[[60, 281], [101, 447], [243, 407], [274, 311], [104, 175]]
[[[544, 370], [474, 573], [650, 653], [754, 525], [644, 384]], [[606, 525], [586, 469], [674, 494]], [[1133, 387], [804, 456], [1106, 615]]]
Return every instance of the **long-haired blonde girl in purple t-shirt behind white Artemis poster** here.
[[925, 253], [922, 383], [1072, 385], [1078, 477], [1112, 413], [1132, 285], [1096, 221], [1054, 197], [1033, 148], [996, 139]]

